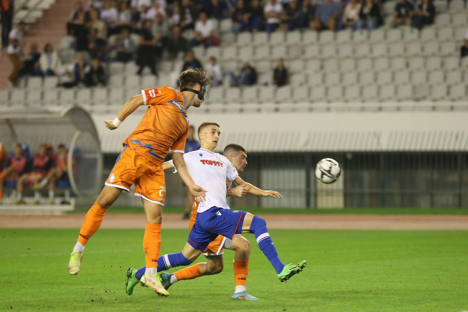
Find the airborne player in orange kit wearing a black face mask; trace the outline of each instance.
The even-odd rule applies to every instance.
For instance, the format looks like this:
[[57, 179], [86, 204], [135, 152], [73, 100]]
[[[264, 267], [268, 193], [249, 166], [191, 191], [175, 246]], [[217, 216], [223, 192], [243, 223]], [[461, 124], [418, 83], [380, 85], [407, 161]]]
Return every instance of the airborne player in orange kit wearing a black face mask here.
[[171, 150], [174, 165], [182, 180], [192, 195], [203, 201], [205, 190], [193, 182], [183, 152], [189, 130], [187, 109], [192, 105], [201, 105], [206, 86], [210, 83], [210, 78], [202, 70], [186, 70], [179, 75], [180, 91], [171, 87], [142, 90], [140, 95], [124, 104], [113, 121], [105, 121], [108, 129], [117, 129], [139, 106], [148, 106], [137, 128], [125, 139], [124, 148], [117, 157], [101, 195], [86, 214], [70, 257], [68, 273], [78, 274], [84, 247], [101, 225], [106, 210], [122, 191], [129, 191], [135, 184], [135, 196], [141, 197], [146, 214], [143, 238], [146, 272], [141, 283], [161, 295], [169, 294], [161, 286], [161, 278], [156, 272], [161, 247], [162, 206], [166, 197], [162, 163]]

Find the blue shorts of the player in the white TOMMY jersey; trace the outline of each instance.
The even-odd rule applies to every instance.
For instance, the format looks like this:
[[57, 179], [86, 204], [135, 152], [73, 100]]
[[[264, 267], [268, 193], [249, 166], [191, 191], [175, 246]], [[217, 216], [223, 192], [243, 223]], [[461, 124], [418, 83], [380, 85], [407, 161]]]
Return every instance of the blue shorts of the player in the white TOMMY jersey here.
[[218, 235], [233, 239], [234, 234], [242, 232], [242, 224], [247, 212], [242, 210], [211, 207], [197, 213], [187, 242], [195, 249], [204, 251]]

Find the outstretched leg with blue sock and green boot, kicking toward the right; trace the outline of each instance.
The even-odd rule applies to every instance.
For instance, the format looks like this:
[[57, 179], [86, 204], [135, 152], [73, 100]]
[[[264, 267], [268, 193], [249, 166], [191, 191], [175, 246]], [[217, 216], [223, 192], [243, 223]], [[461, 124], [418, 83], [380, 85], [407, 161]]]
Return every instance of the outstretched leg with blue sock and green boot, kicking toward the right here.
[[268, 233], [266, 221], [263, 218], [246, 213], [242, 223], [242, 233], [253, 233], [257, 240], [258, 247], [268, 258], [281, 282], [287, 281], [291, 276], [299, 273], [306, 266], [306, 261], [300, 261], [298, 264], [285, 265], [278, 257], [278, 252], [273, 244], [273, 240]]

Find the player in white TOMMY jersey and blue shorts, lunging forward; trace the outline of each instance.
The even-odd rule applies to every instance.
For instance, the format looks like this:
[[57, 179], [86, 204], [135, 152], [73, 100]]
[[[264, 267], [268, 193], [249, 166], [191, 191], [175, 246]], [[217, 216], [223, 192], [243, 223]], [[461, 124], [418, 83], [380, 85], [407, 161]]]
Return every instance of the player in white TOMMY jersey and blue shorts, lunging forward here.
[[[198, 128], [198, 137], [202, 148], [184, 154], [190, 175], [195, 183], [206, 189], [205, 200], [198, 203], [197, 218], [190, 230], [189, 238], [183, 251], [176, 254], [165, 254], [158, 259], [158, 272], [177, 266], [190, 265], [205, 251], [205, 248], [219, 235], [233, 239], [235, 234], [255, 234], [258, 246], [271, 262], [281, 282], [287, 281], [291, 276], [299, 273], [306, 266], [306, 261], [298, 264], [285, 265], [278, 257], [276, 247], [271, 240], [264, 219], [254, 216], [246, 211], [231, 210], [226, 203], [226, 180], [234, 182], [237, 186], [246, 188], [246, 192], [258, 196], [282, 197], [275, 191], [263, 191], [252, 184], [244, 182], [236, 168], [223, 155], [214, 152], [219, 140], [219, 125], [217, 123], [202, 123]], [[183, 279], [191, 279], [207, 275], [207, 267], [196, 264], [190, 267], [190, 276], [186, 274]], [[144, 271], [144, 268], [140, 269]], [[140, 271], [139, 270], [139, 271]], [[128, 272], [127, 272], [128, 274]], [[145, 276], [134, 273], [132, 278], [141, 278], [144, 285]], [[129, 277], [127, 275], [127, 277]], [[171, 276], [172, 278], [172, 276]], [[167, 282], [167, 281], [166, 281]], [[167, 289], [171, 283], [165, 283]], [[233, 294], [233, 298], [236, 293]], [[237, 295], [236, 295], [237, 296]], [[239, 299], [246, 300], [247, 294]], [[251, 299], [250, 300], [255, 300]]]

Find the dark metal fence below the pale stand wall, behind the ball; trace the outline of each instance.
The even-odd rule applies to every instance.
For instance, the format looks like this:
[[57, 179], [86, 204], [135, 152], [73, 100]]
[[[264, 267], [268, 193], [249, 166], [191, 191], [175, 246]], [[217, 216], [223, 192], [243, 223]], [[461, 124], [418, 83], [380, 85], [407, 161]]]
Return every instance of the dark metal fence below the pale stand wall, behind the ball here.
[[[107, 174], [115, 157], [106, 157]], [[326, 157], [342, 167], [340, 179], [333, 184], [315, 178], [316, 163]], [[284, 198], [229, 198], [235, 207], [468, 205], [468, 153], [464, 152], [248, 153], [248, 162], [242, 179], [261, 189], [277, 190]], [[166, 204], [184, 205], [186, 190], [178, 174], [166, 174], [166, 185]]]

